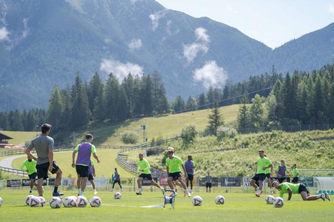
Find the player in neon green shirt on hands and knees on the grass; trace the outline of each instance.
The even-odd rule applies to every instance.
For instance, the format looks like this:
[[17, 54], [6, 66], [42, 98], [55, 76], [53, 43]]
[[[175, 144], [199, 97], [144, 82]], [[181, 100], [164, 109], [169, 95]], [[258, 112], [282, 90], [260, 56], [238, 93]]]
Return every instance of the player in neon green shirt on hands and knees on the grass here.
[[322, 199], [323, 201], [325, 201], [325, 198], [328, 199], [330, 201], [330, 197], [328, 195], [328, 193], [322, 193], [322, 194], [318, 194], [315, 196], [311, 196], [310, 192], [307, 190], [306, 186], [302, 183], [300, 184], [291, 184], [291, 183], [281, 183], [279, 184], [277, 181], [273, 182], [273, 186], [279, 190], [279, 196], [283, 197], [283, 195], [285, 193], [289, 194], [289, 197], [287, 198], [287, 200], [291, 199], [292, 194], [301, 194], [303, 200], [317, 200], [317, 199]]

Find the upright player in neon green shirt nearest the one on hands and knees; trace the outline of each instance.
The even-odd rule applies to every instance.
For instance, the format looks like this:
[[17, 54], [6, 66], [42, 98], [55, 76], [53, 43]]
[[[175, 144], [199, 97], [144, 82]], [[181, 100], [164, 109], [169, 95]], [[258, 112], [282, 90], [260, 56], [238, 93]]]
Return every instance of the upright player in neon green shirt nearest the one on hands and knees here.
[[[257, 197], [260, 197], [262, 193], [262, 185], [265, 177], [266, 170], [272, 167], [272, 163], [270, 159], [264, 157], [264, 150], [259, 150], [259, 157], [256, 160], [256, 164], [258, 165], [258, 171], [256, 175], [251, 180], [251, 185], [257, 190], [255, 194]], [[259, 181], [259, 187], [255, 184], [255, 182]]]

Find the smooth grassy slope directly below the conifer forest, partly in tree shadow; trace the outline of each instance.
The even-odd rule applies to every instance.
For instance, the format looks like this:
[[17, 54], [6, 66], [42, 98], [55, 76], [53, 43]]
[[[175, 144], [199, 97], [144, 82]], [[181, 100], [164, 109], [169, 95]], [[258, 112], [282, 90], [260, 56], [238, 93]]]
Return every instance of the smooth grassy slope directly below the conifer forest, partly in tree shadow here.
[[[220, 108], [224, 121], [231, 123], [236, 121], [239, 105], [223, 106]], [[118, 124], [91, 123], [86, 129], [79, 131], [78, 142], [84, 138], [86, 133], [94, 136], [94, 143], [101, 145], [125, 145], [120, 140], [120, 134], [123, 131], [130, 130], [139, 136], [139, 143], [143, 142], [142, 125], [146, 125], [146, 134], [148, 141], [152, 138], [163, 137], [171, 138], [181, 134], [181, 130], [188, 124], [195, 124], [198, 130], [204, 130], [207, 125], [207, 115], [211, 113], [210, 109], [196, 110], [175, 115], [166, 115], [163, 117], [148, 117], [141, 119], [130, 119]], [[70, 134], [70, 133], [68, 133]], [[68, 134], [64, 135], [69, 143], [71, 138]]]

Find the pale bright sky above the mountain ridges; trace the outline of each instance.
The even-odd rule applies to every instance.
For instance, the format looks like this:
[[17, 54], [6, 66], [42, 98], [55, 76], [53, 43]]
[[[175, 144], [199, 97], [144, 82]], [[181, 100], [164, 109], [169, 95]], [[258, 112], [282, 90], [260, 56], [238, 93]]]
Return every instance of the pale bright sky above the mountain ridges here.
[[334, 22], [334, 0], [156, 1], [168, 9], [235, 27], [272, 48]]

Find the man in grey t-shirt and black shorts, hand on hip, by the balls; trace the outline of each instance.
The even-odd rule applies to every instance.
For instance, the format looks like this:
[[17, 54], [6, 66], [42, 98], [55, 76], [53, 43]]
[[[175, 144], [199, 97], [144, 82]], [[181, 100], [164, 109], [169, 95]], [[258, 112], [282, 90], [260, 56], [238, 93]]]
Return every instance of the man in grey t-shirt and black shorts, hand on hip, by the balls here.
[[[52, 174], [56, 174], [55, 186], [52, 195], [61, 196], [64, 195], [58, 191], [58, 187], [62, 178], [62, 171], [57, 165], [56, 161], [53, 160], [53, 139], [49, 136], [51, 130], [50, 124], [41, 125], [41, 134], [36, 138], [32, 139], [25, 153], [32, 159], [37, 160], [36, 170], [37, 170], [37, 192], [39, 196], [43, 196], [43, 180], [46, 180], [48, 176], [48, 171]], [[31, 150], [35, 148], [37, 157], [35, 157]]]

